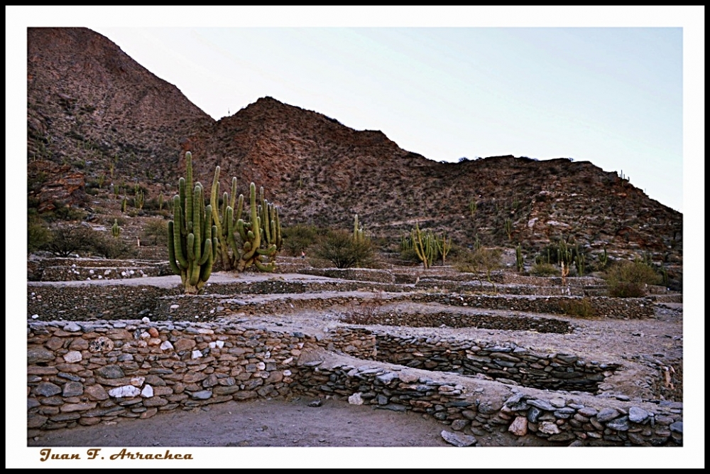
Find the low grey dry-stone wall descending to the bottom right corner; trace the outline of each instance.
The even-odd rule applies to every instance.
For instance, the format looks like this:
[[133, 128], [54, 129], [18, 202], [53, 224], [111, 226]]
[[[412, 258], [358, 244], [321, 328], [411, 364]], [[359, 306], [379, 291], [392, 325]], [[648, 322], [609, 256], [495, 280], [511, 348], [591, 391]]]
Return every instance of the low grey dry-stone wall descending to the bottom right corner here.
[[537, 436], [559, 446], [682, 445], [682, 404], [628, 404], [603, 400], [537, 396], [513, 388], [507, 399], [486, 398], [484, 389], [467, 393], [462, 384], [368, 365], [323, 367], [311, 362], [296, 389], [312, 397], [341, 395], [351, 403], [393, 411], [426, 413], [466, 435], [510, 431]]

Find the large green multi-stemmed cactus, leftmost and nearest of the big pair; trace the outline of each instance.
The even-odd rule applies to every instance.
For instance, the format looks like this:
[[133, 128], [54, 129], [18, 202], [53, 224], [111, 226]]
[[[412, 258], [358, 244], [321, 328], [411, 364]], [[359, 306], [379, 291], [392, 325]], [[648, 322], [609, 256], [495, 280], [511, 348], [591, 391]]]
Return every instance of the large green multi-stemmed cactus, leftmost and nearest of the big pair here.
[[182, 279], [186, 294], [197, 294], [217, 257], [217, 227], [212, 224], [212, 205], [204, 205], [202, 185], [192, 186], [192, 153], [185, 153], [187, 179], [180, 178], [180, 193], [173, 198], [173, 219], [168, 222], [168, 260]]

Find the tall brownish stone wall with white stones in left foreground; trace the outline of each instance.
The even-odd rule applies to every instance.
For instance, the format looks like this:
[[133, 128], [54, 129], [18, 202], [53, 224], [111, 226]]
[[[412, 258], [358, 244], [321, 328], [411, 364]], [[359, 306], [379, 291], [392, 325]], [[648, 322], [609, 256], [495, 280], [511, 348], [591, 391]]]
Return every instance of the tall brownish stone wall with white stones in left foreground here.
[[[146, 320], [147, 321], [147, 320]], [[289, 393], [300, 333], [231, 323], [28, 323], [28, 436]]]

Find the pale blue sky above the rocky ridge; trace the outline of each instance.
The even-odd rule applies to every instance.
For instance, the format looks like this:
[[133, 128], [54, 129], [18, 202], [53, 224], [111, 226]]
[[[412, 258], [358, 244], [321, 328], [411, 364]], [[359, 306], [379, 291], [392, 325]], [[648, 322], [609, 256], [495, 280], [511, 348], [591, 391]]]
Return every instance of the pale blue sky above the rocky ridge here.
[[682, 210], [682, 28], [94, 30], [215, 119], [270, 95], [436, 161], [591, 161]]

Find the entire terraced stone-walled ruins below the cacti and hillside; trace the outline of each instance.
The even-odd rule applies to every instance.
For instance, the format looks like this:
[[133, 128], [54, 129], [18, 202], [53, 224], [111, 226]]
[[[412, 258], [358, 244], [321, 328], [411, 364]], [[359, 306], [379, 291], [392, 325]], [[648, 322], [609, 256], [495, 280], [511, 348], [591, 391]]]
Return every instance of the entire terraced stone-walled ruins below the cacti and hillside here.
[[[285, 260], [292, 271], [300, 263]], [[87, 269], [100, 268], [60, 267], [53, 260], [49, 274], [92, 279]], [[442, 270], [433, 289], [411, 269], [378, 270], [373, 281], [368, 271], [305, 269], [215, 274], [204, 295], [183, 296], [175, 277], [131, 268], [121, 281], [28, 284], [30, 436], [307, 395], [421, 413], [461, 436], [682, 444], [679, 294], [555, 296], [554, 279], [541, 295], [520, 294], [506, 276], [497, 294], [457, 292], [442, 286], [465, 283], [461, 274]], [[560, 301], [574, 298], [591, 298], [603, 316], [562, 313]]]

